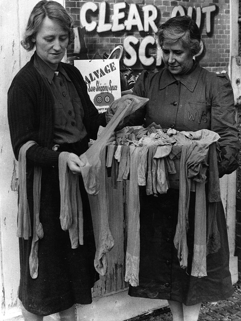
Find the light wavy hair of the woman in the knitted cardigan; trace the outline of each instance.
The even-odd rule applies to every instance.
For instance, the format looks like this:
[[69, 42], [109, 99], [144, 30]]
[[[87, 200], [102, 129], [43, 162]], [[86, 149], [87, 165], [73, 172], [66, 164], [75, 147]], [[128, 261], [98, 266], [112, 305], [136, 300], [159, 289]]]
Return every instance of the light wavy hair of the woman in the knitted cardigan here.
[[56, 21], [62, 26], [64, 30], [68, 32], [69, 43], [73, 42], [74, 30], [73, 30], [73, 18], [65, 8], [56, 1], [41, 0], [32, 9], [29, 20], [21, 41], [21, 45], [27, 51], [32, 50], [35, 47], [35, 42], [32, 41], [36, 37], [40, 25], [45, 17]]

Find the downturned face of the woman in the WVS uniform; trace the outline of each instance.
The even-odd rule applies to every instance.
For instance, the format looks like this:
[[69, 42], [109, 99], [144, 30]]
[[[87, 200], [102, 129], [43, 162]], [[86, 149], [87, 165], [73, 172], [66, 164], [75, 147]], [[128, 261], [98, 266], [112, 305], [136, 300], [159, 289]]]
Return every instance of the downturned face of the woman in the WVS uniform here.
[[193, 57], [180, 41], [169, 44], [164, 41], [162, 45], [163, 60], [173, 75], [186, 74], [193, 66]]

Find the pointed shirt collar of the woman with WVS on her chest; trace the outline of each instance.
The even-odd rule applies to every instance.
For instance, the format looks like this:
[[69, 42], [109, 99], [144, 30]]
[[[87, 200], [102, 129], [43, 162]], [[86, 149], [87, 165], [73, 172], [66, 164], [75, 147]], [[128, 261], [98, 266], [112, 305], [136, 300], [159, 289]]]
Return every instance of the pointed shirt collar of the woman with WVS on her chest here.
[[[194, 88], [197, 84], [199, 74], [201, 72], [201, 67], [199, 63], [195, 62], [192, 69], [188, 74], [185, 74], [183, 78], [180, 79], [180, 82], [190, 91], [194, 91]], [[164, 69], [161, 81], [159, 84], [159, 89], [163, 89], [170, 85], [171, 83], [176, 82], [176, 79], [169, 72], [167, 68]]]

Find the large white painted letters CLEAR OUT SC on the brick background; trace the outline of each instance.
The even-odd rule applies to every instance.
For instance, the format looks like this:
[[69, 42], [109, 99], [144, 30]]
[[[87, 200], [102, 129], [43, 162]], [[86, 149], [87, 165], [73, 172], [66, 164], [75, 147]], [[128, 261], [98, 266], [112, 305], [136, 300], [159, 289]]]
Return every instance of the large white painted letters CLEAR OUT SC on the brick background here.
[[[138, 6], [136, 4], [128, 4], [128, 13], [125, 10], [127, 4], [125, 2], [112, 4], [113, 14], [108, 14], [107, 3], [101, 2], [85, 2], [80, 8], [80, 23], [86, 29], [86, 32], [96, 31], [97, 33], [107, 32], [128, 32], [136, 27], [139, 32], [148, 33], [143, 38], [135, 35], [127, 35], [123, 40], [123, 48], [125, 57], [123, 63], [126, 67], [133, 67], [137, 60], [143, 66], [151, 66], [153, 63], [156, 66], [161, 65], [161, 48], [156, 42], [155, 33], [158, 31], [156, 20], [158, 10], [155, 5], [147, 4]], [[195, 17], [198, 27], [201, 24], [201, 18], [206, 22], [206, 33], [211, 32], [211, 13], [214, 13], [216, 6], [209, 5], [204, 7], [187, 7], [178, 5], [173, 7], [171, 17], [176, 15], [189, 15]], [[91, 19], [89, 18], [91, 15]], [[151, 33], [151, 34], [149, 34]], [[147, 48], [156, 48], [155, 58], [153, 55], [147, 54]]]

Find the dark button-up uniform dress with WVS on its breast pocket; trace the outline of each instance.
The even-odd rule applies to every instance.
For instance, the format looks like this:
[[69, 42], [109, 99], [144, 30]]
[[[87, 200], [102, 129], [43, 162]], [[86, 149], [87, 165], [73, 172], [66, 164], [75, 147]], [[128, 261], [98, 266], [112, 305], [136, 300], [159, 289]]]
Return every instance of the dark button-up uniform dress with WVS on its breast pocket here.
[[[194, 64], [180, 81], [167, 69], [138, 77], [133, 94], [148, 97], [147, 105], [135, 112], [129, 125], [152, 122], [179, 131], [210, 129], [220, 135], [223, 161], [219, 176], [238, 166], [238, 130], [232, 87], [226, 74], [214, 74]], [[195, 193], [191, 192], [187, 232], [188, 267], [180, 267], [173, 239], [178, 217], [179, 191], [146, 195], [140, 187], [140, 273], [139, 286], [129, 295], [168, 299], [194, 305], [202, 301], [226, 299], [233, 293], [229, 272], [227, 227], [222, 203], [217, 203], [217, 224], [221, 248], [207, 256], [207, 276], [191, 276], [194, 245]]]

